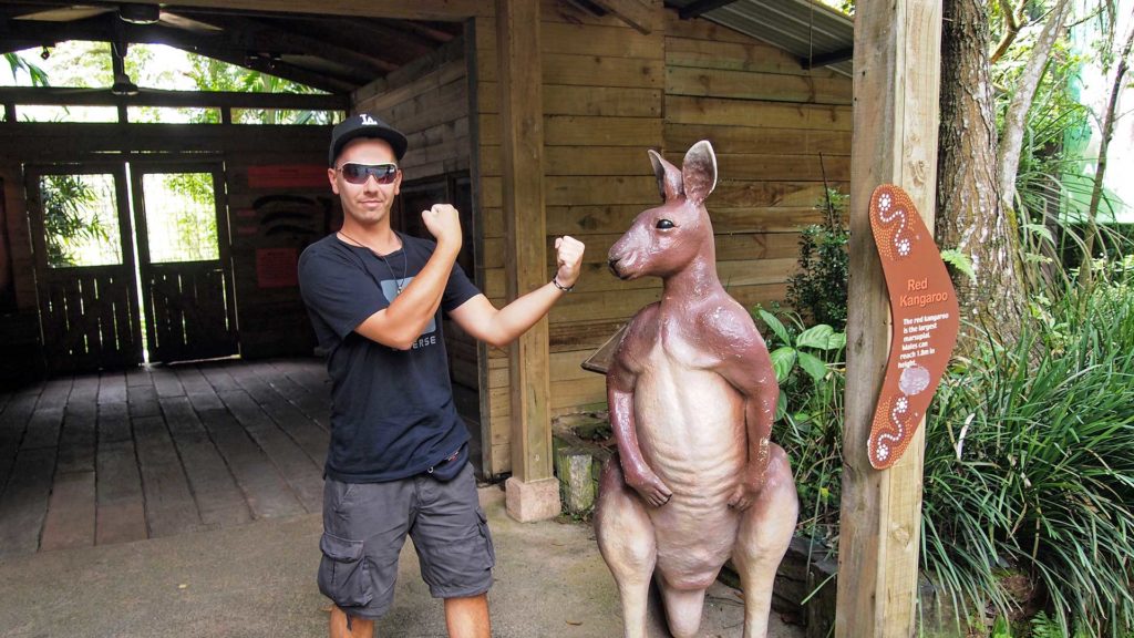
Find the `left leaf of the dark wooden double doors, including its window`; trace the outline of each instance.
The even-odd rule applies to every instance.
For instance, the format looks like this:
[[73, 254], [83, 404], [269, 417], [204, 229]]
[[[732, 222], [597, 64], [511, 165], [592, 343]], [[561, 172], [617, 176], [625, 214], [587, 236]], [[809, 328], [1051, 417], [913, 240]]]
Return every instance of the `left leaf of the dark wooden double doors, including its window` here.
[[49, 373], [137, 366], [143, 358], [124, 163], [25, 171]]

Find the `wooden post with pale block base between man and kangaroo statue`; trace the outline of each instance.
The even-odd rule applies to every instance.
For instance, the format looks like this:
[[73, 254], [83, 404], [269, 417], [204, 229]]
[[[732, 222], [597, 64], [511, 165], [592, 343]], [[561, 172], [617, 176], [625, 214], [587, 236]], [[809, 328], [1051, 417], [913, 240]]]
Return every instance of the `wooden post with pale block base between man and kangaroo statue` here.
[[[497, 0], [496, 7], [505, 274], [513, 300], [548, 283], [540, 2]], [[508, 363], [513, 473], [507, 484], [508, 512], [522, 521], [551, 518], [559, 513], [559, 485], [552, 478], [547, 318], [513, 344]]]

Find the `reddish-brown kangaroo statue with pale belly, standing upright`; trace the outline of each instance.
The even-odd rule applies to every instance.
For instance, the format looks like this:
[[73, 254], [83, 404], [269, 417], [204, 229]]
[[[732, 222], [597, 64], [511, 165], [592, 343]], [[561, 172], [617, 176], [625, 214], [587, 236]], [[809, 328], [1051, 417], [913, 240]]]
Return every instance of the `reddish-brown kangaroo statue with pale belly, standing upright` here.
[[696, 636], [705, 589], [731, 557], [744, 637], [764, 638], [776, 569], [798, 515], [784, 450], [769, 435], [779, 386], [763, 338], [717, 277], [704, 199], [717, 157], [694, 144], [678, 169], [650, 151], [665, 203], [610, 249], [621, 279], [661, 277], [607, 372], [618, 455], [603, 467], [594, 524], [618, 584], [626, 638], [646, 636], [651, 578], [670, 632]]

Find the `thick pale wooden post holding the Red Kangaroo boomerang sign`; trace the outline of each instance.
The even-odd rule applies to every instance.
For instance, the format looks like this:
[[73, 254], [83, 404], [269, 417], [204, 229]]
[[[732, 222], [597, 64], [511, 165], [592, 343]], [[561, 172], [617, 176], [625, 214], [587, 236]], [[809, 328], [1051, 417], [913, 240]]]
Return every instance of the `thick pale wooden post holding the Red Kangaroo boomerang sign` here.
[[879, 184], [902, 186], [933, 228], [937, 191], [939, 0], [861, 0], [854, 36], [850, 282], [836, 638], [916, 630], [924, 425], [892, 468], [866, 457], [889, 353], [890, 314], [870, 229]]

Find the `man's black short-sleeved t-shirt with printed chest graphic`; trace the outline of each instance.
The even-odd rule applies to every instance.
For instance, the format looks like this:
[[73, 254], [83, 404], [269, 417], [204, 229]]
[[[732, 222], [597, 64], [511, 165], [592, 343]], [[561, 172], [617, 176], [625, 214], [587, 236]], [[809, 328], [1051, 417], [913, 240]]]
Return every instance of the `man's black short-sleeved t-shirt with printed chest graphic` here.
[[398, 284], [409, 285], [437, 246], [398, 235], [403, 250], [384, 262], [367, 249], [329, 235], [299, 257], [299, 291], [327, 352], [331, 377], [331, 445], [325, 475], [344, 482], [380, 482], [437, 465], [468, 440], [457, 414], [441, 334], [449, 312], [480, 291], [452, 267], [441, 308], [407, 351], [355, 333], [387, 308]]

